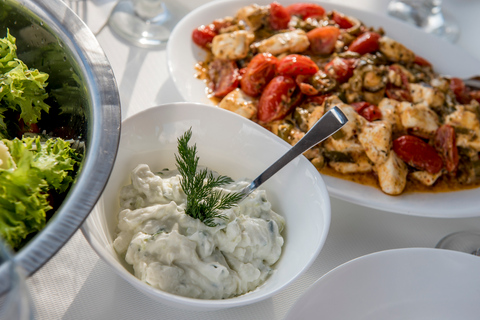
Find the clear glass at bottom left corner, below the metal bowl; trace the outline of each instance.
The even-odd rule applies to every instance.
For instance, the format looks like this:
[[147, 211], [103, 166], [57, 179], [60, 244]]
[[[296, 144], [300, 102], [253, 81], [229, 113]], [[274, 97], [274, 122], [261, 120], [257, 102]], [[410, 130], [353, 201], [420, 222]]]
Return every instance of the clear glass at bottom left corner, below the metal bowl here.
[[33, 316], [24, 272], [0, 239], [0, 320], [30, 320]]

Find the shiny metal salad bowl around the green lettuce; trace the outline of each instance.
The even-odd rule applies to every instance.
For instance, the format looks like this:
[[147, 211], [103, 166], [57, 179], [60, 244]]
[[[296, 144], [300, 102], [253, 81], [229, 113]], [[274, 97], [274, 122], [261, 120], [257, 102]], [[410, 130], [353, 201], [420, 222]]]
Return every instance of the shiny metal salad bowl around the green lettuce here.
[[[103, 50], [61, 0], [0, 1], [2, 38], [7, 29], [17, 39], [18, 58], [49, 74], [52, 107], [62, 107], [62, 112], [52, 108], [42, 120], [49, 118], [84, 145], [80, 170], [68, 194], [45, 228], [15, 253], [15, 263], [30, 276], [68, 241], [100, 197], [117, 153], [121, 108]], [[6, 269], [0, 266], [0, 296], [9, 287]]]

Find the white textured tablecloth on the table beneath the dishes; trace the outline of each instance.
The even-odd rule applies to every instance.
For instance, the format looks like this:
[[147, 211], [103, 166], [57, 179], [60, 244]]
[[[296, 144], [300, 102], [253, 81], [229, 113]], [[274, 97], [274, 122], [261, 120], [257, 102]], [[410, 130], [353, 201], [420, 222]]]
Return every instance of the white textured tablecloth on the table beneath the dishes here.
[[[78, 0], [84, 1], [84, 0]], [[122, 119], [147, 108], [182, 101], [168, 73], [166, 46], [132, 46], [102, 28], [113, 0], [86, 0], [82, 17], [97, 33], [110, 61], [121, 98]], [[168, 0], [167, 0], [168, 1]], [[386, 15], [387, 0], [330, 0]], [[183, 14], [207, 0], [176, 0]], [[445, 12], [460, 25], [456, 43], [480, 60], [480, 1], [444, 0]], [[480, 73], [480, 70], [477, 71]], [[332, 219], [323, 250], [313, 265], [285, 290], [265, 301], [222, 311], [193, 312], [152, 300], [116, 275], [77, 231], [65, 246], [27, 280], [35, 318], [72, 319], [283, 319], [317, 279], [352, 259], [373, 252], [409, 247], [434, 247], [445, 235], [480, 230], [479, 217], [427, 218], [360, 207], [331, 198]], [[348, 284], [345, 284], [348, 290]]]

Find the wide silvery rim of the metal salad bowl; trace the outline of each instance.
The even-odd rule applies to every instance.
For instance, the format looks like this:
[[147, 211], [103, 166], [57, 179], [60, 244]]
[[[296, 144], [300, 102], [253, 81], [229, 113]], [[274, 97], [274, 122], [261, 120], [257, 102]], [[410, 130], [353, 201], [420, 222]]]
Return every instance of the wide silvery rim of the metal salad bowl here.
[[89, 79], [87, 92], [92, 105], [86, 156], [75, 184], [45, 228], [15, 254], [15, 262], [31, 276], [78, 230], [103, 192], [120, 141], [121, 108], [113, 70], [103, 49], [86, 24], [63, 1], [12, 3], [41, 21], [71, 49], [79, 71]]

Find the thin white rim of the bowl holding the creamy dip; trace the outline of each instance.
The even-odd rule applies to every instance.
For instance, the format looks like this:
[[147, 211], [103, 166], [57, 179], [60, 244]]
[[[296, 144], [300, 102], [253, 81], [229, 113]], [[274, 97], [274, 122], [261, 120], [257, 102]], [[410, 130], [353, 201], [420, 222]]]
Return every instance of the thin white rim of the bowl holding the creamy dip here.
[[[150, 107], [146, 110], [143, 110], [141, 112], [138, 112], [136, 114], [133, 114], [129, 116], [128, 118], [124, 119], [122, 122], [122, 125], [126, 127], [126, 123], [132, 121], [136, 117], [143, 117], [145, 114], [151, 113], [151, 112], [158, 112], [157, 110], [160, 109], [166, 109], [166, 108], [182, 108], [182, 107], [190, 107], [194, 106], [195, 108], [204, 108], [205, 110], [211, 110], [211, 109], [216, 109], [219, 112], [223, 112], [225, 114], [229, 114], [231, 117], [236, 117], [238, 119], [241, 119], [241, 121], [244, 121], [245, 124], [249, 126], [255, 126], [258, 127], [259, 130], [264, 131], [265, 134], [271, 135], [271, 137], [276, 140], [282, 147], [285, 148], [285, 151], [287, 148], [290, 148], [291, 145], [284, 141], [283, 139], [279, 138], [278, 136], [274, 135], [267, 129], [263, 128], [262, 126], [258, 125], [255, 122], [252, 122], [236, 113], [233, 113], [231, 111], [227, 111], [221, 108], [218, 108], [216, 106], [210, 106], [202, 103], [196, 103], [196, 102], [173, 102], [173, 103], [165, 103], [165, 104], [160, 104], [154, 107]], [[299, 157], [300, 158], [300, 157]], [[189, 298], [189, 297], [183, 297], [179, 295], [175, 295], [169, 292], [165, 292], [156, 288], [153, 288], [152, 286], [149, 286], [143, 282], [141, 282], [138, 278], [136, 278], [132, 273], [130, 273], [128, 270], [126, 270], [123, 266], [117, 263], [117, 261], [113, 261], [114, 259], [110, 259], [109, 253], [107, 250], [103, 247], [102, 244], [100, 244], [95, 236], [92, 236], [90, 232], [88, 231], [90, 221], [87, 219], [87, 221], [81, 226], [81, 230], [85, 238], [87, 239], [88, 243], [90, 246], [94, 249], [94, 251], [102, 258], [104, 262], [106, 262], [111, 268], [113, 268], [117, 274], [123, 279], [126, 280], [128, 283], [130, 283], [132, 286], [134, 286], [137, 290], [141, 291], [145, 295], [149, 296], [150, 298], [153, 299], [159, 299], [161, 298], [162, 300], [165, 300], [166, 303], [169, 303], [170, 305], [173, 305], [174, 307], [179, 307], [182, 305], [183, 307], [190, 308], [192, 310], [200, 310], [200, 311], [212, 311], [212, 310], [219, 310], [219, 309], [226, 309], [226, 308], [232, 308], [232, 307], [240, 307], [240, 306], [245, 306], [248, 304], [252, 303], [257, 303], [260, 301], [263, 301], [265, 299], [271, 298], [272, 296], [278, 294], [282, 290], [284, 290], [286, 287], [291, 285], [294, 281], [296, 281], [306, 270], [308, 270], [311, 265], [315, 262], [316, 258], [320, 254], [321, 250], [323, 249], [325, 245], [325, 241], [328, 235], [328, 231], [330, 229], [330, 224], [331, 224], [331, 203], [330, 203], [330, 198], [329, 198], [329, 193], [326, 187], [325, 182], [323, 181], [323, 178], [321, 174], [315, 169], [315, 167], [306, 159], [302, 158], [300, 161], [305, 162], [306, 165], [311, 166], [312, 172], [316, 175], [318, 175], [318, 180], [319, 180], [319, 187], [321, 189], [322, 194], [325, 195], [325, 198], [323, 200], [323, 205], [322, 207], [326, 210], [326, 212], [323, 215], [323, 229], [322, 231], [323, 234], [321, 237], [318, 239], [318, 246], [315, 249], [315, 252], [312, 252], [310, 255], [310, 259], [308, 263], [303, 266], [303, 268], [297, 272], [296, 275], [292, 276], [287, 282], [283, 283], [280, 285], [278, 288], [275, 290], [272, 290], [268, 294], [265, 294], [263, 296], [258, 296], [254, 298], [242, 298], [241, 300], [235, 299], [238, 297], [245, 297], [245, 295], [240, 295], [238, 297], [233, 297], [229, 299], [196, 299], [196, 298]], [[97, 208], [94, 208], [96, 210]], [[108, 255], [108, 258], [105, 257], [105, 255]], [[260, 288], [262, 285], [260, 285], [258, 288]], [[247, 293], [248, 294], [248, 293]]]

